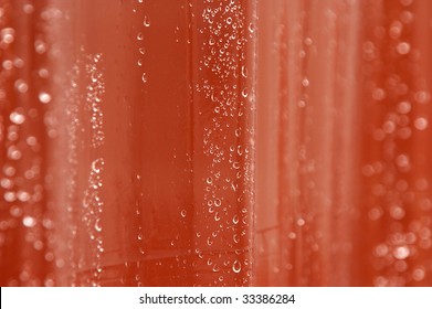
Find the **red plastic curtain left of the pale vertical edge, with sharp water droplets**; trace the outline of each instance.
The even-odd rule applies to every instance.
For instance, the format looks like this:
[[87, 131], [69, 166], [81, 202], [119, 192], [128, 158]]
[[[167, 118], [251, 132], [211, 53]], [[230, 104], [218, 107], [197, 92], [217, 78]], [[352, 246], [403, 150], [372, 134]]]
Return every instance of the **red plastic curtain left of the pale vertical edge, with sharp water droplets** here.
[[2, 285], [250, 285], [252, 2], [2, 3]]

